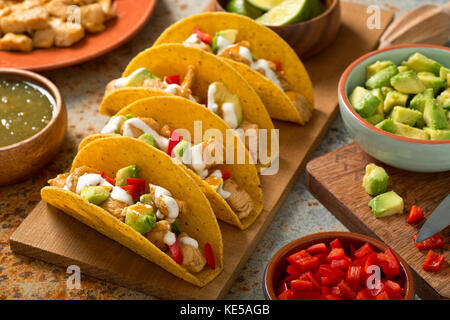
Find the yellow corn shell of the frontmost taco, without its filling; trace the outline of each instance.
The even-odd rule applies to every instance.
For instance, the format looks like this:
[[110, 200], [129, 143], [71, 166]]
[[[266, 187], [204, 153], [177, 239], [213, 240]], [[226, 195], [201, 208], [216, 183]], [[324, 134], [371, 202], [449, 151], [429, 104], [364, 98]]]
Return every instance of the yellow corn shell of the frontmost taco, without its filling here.
[[72, 171], [86, 165], [114, 176], [120, 168], [130, 164], [139, 167], [140, 178], [168, 189], [175, 198], [186, 202], [189, 211], [179, 215], [179, 225], [198, 240], [199, 248], [204, 248], [207, 242], [211, 244], [216, 262], [214, 270], [206, 266], [199, 273], [188, 272], [140, 233], [101, 207], [89, 204], [76, 193], [57, 187], [44, 187], [41, 190], [42, 199], [173, 275], [196, 286], [205, 286], [223, 270], [222, 236], [208, 200], [185, 170], [174, 165], [161, 151], [148, 148], [144, 142], [127, 137], [112, 137], [85, 145], [75, 157]]

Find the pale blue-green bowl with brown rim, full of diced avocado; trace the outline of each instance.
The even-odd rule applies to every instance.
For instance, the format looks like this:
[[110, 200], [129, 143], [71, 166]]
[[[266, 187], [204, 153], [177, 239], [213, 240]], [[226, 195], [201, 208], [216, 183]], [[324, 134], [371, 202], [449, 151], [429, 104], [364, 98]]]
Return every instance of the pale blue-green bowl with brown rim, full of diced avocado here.
[[372, 157], [409, 171], [450, 170], [450, 48], [370, 52], [338, 87], [345, 127]]

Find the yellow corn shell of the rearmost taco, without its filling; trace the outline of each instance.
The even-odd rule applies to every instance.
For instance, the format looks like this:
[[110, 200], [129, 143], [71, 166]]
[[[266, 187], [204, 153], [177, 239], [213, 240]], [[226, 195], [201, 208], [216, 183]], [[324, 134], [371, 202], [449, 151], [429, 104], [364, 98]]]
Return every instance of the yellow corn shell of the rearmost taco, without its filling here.
[[[183, 43], [193, 33], [195, 27], [199, 27], [211, 37], [221, 30], [237, 29], [236, 41], [249, 41], [250, 51], [258, 58], [281, 62], [290, 86], [305, 97], [310, 108], [314, 106], [311, 80], [294, 50], [275, 32], [248, 17], [226, 12], [196, 14], [167, 28], [154, 45]], [[299, 124], [305, 124], [310, 119], [310, 108], [296, 107], [283, 90], [262, 74], [243, 63], [223, 59], [255, 89], [272, 118]]]

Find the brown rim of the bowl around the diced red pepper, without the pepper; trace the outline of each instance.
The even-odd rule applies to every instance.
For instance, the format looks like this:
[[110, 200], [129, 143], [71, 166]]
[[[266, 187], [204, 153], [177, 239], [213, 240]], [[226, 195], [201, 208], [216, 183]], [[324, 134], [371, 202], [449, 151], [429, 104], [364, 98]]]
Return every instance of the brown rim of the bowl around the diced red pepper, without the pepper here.
[[[281, 248], [267, 265], [266, 271], [264, 272], [263, 284], [263, 290], [266, 299], [277, 300], [275, 286], [280, 282], [285, 273], [287, 267], [286, 258], [288, 256], [299, 250], [306, 249], [316, 243], [329, 243], [335, 238], [338, 238], [341, 241], [342, 246], [344, 247], [344, 250], [346, 252], [349, 252], [350, 244], [353, 244], [355, 248], [358, 248], [366, 242], [368, 242], [377, 252], [384, 252], [389, 248], [381, 241], [352, 232], [320, 232], [294, 240]], [[395, 255], [397, 256], [397, 259], [402, 266], [402, 271], [400, 273], [400, 282], [405, 289], [405, 300], [412, 300], [414, 297], [414, 281], [411, 270], [409, 269], [409, 266], [406, 264], [405, 260], [403, 260], [397, 253], [395, 253]]]

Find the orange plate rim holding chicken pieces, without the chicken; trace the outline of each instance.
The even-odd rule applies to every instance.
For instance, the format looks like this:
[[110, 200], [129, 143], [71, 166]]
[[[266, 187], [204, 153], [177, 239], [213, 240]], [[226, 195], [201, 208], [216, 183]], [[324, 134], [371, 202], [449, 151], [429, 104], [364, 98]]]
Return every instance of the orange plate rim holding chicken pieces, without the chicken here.
[[0, 67], [33, 71], [72, 66], [97, 58], [130, 40], [147, 22], [157, 0], [115, 0], [118, 17], [106, 29], [88, 34], [69, 48], [38, 49], [28, 53], [0, 51]]

